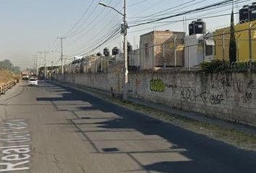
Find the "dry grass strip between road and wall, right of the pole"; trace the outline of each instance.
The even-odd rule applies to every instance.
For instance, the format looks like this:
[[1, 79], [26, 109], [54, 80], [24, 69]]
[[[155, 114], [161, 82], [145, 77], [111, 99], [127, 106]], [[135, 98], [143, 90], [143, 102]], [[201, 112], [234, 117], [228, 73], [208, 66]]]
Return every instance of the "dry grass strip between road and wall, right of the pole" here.
[[119, 100], [117, 102], [130, 110], [136, 110], [145, 115], [155, 117], [158, 120], [178, 125], [179, 127], [185, 128], [195, 133], [203, 134], [205, 136], [208, 136], [209, 138], [229, 143], [238, 148], [256, 151], [256, 136], [253, 136], [251, 134], [244, 133], [233, 128], [223, 128], [218, 125], [212, 125], [210, 123], [203, 123], [197, 120], [191, 120], [187, 117], [182, 117], [169, 112], [155, 110], [153, 108], [145, 107], [143, 105], [137, 105], [132, 102], [121, 102]]

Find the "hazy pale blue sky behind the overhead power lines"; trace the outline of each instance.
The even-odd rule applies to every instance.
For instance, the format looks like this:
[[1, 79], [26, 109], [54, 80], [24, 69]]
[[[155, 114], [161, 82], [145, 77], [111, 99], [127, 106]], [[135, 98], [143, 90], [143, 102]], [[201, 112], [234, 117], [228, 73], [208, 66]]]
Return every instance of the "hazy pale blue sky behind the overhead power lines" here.
[[[114, 6], [120, 12], [123, 10], [123, 0], [101, 1], [109, 6]], [[134, 25], [141, 22], [137, 20], [147, 19], [145, 17], [165, 9], [173, 8], [164, 12], [167, 13], [166, 15], [171, 15], [218, 1], [222, 0], [127, 0], [128, 22], [129, 25]], [[47, 65], [50, 65], [51, 61], [54, 62], [54, 65], [58, 65], [61, 45], [57, 37], [66, 37], [63, 40], [63, 50], [67, 63], [74, 56], [102, 52], [105, 47], [121, 48], [122, 36], [118, 34], [114, 40], [90, 52], [100, 45], [107, 35], [114, 32], [121, 25], [122, 20], [121, 15], [114, 10], [99, 6], [99, 0], [0, 0], [0, 2], [0, 60], [10, 59], [16, 66], [32, 68], [35, 65], [36, 52], [46, 51]], [[235, 12], [242, 5], [251, 2], [249, 0], [239, 1], [239, 4], [234, 5]], [[174, 23], [174, 20], [182, 20], [186, 17], [188, 25], [191, 22], [189, 19], [229, 13], [231, 13], [231, 6], [223, 6], [209, 12], [187, 14], [163, 21], [168, 23], [131, 27], [128, 30], [128, 40], [133, 46], [136, 46], [140, 43], [140, 35], [146, 32], [153, 30], [183, 32], [184, 23]], [[207, 30], [213, 31], [229, 26], [230, 16], [213, 17], [204, 19], [204, 21], [207, 23]], [[40, 56], [37, 53], [37, 55], [40, 66], [43, 66], [43, 54]]]

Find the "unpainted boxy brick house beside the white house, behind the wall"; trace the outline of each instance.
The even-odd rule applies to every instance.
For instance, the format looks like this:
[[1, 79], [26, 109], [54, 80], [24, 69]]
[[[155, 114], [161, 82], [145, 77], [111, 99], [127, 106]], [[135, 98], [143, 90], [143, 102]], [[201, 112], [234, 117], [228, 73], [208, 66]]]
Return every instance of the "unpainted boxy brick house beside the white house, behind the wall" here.
[[184, 66], [185, 32], [153, 31], [140, 36], [140, 68]]

